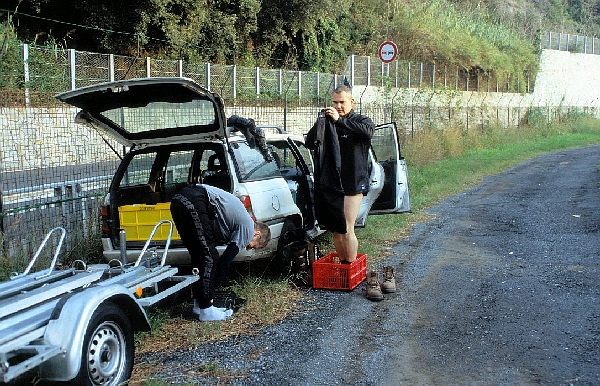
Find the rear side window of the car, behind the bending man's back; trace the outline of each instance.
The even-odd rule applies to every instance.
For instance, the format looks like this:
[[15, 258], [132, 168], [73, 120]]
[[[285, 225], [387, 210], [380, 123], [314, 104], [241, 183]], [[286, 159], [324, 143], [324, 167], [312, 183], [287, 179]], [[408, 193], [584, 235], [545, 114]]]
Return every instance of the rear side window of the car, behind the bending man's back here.
[[231, 143], [231, 153], [240, 182], [281, 177], [275, 160], [265, 160], [258, 148], [251, 148], [246, 142]]

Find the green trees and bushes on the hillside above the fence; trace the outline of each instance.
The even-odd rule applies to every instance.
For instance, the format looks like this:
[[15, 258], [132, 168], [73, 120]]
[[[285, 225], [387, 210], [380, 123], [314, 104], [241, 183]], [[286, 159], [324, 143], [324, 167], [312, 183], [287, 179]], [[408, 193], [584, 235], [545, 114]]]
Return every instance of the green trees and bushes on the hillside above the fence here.
[[[9, 0], [3, 36], [189, 62], [336, 72], [376, 55], [535, 72], [541, 31], [594, 34], [600, 0]], [[1, 64], [1, 63], [0, 63]]]

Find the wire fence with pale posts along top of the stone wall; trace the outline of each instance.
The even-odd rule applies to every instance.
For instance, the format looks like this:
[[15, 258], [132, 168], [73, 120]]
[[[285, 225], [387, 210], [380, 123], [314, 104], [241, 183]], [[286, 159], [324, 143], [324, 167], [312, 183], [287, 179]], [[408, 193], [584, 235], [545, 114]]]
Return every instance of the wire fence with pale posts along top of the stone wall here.
[[[218, 92], [233, 103], [237, 100], [317, 100], [344, 80], [352, 86], [431, 88], [455, 91], [529, 92], [530, 75], [503, 78], [461, 67], [394, 61], [386, 64], [369, 56], [350, 56], [344, 74], [262, 69], [182, 60], [158, 60], [62, 50], [8, 42], [0, 63], [0, 88], [29, 92], [61, 92], [100, 82], [143, 77], [185, 76]], [[31, 100], [24, 95], [25, 102]]]

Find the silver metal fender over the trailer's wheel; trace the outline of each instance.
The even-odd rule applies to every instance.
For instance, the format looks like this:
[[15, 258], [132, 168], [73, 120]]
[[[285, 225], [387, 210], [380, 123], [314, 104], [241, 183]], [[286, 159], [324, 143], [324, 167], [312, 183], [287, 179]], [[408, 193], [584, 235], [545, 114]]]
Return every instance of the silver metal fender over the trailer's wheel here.
[[44, 379], [69, 381], [79, 373], [90, 319], [107, 302], [117, 305], [127, 315], [132, 331], [150, 331], [145, 310], [123, 285], [92, 286], [67, 296], [57, 306], [46, 328], [45, 341], [60, 346], [63, 354], [40, 365], [40, 375]]

